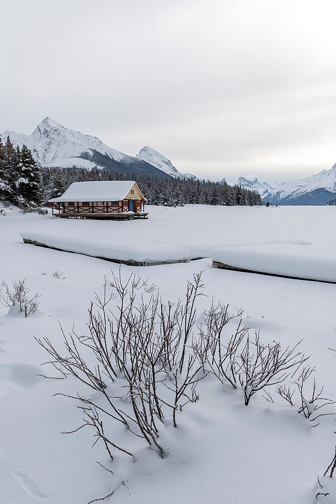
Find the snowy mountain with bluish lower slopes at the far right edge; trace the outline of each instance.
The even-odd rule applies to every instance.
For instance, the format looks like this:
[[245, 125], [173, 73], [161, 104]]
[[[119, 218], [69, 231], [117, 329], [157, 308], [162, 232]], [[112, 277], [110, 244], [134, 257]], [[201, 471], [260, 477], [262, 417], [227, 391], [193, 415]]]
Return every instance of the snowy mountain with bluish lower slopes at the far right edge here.
[[286, 180], [273, 185], [254, 176], [239, 177], [237, 185], [257, 191], [263, 201], [280, 205], [325, 205], [336, 198], [336, 164], [312, 177]]

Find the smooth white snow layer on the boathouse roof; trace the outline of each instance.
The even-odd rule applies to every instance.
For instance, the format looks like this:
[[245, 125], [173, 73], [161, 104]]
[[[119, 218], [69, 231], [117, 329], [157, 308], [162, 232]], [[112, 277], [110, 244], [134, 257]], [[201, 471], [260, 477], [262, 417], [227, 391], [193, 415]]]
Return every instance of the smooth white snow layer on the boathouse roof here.
[[[121, 201], [136, 184], [133, 180], [104, 180], [97, 182], [74, 182], [59, 198], [49, 202], [61, 201]], [[137, 185], [137, 184], [136, 184]], [[138, 187], [139, 188], [139, 187]], [[140, 191], [140, 190], [139, 190]]]

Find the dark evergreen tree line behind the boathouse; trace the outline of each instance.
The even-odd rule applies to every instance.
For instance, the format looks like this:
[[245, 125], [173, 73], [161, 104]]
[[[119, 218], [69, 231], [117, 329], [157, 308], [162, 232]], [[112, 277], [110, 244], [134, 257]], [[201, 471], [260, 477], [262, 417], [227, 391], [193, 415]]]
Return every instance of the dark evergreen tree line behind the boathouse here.
[[261, 197], [240, 185], [210, 180], [167, 177], [157, 179], [136, 173], [111, 172], [97, 167], [85, 170], [39, 167], [26, 145], [14, 147], [10, 138], [0, 138], [0, 200], [14, 205], [37, 207], [61, 196], [73, 182], [94, 180], [135, 180], [149, 205], [183, 206], [187, 204], [255, 206]]

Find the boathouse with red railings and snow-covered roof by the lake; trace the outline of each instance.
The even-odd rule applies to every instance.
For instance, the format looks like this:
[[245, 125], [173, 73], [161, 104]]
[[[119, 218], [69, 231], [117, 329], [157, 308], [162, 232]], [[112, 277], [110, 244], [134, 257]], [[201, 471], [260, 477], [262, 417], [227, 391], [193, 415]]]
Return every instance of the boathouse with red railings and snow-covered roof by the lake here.
[[59, 198], [49, 200], [54, 217], [146, 219], [146, 198], [131, 180], [74, 182]]

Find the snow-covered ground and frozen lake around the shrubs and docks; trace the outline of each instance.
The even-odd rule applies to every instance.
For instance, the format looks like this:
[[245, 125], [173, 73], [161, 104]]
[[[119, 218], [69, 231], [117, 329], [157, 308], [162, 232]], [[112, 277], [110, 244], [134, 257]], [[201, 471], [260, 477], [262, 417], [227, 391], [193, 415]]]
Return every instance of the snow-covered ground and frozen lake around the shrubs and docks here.
[[[316, 502], [316, 475], [323, 474], [334, 452], [334, 417], [326, 416], [311, 428], [280, 397], [272, 404], [256, 395], [246, 407], [241, 391], [223, 389], [210, 377], [199, 384], [199, 401], [179, 414], [179, 427], [164, 429], [162, 440], [169, 452], [164, 459], [137, 442], [132, 447], [137, 462], [130, 464], [117, 455], [108, 466], [115, 472], [112, 476], [96, 464], [108, 461], [102, 446], [91, 448], [90, 429], [60, 434], [77, 428], [81, 413], [71, 399], [53, 394], [89, 392], [72, 379], [37, 376], [46, 373], [40, 364], [48, 358], [33, 335], [60, 342], [58, 322], [69, 333], [74, 321], [77, 331], [85, 333], [93, 293], [101, 292], [104, 275], [111, 269], [117, 272], [118, 266], [24, 244], [21, 232], [80, 230], [86, 236], [99, 231], [118, 241], [187, 247], [193, 258], [206, 259], [148, 268], [122, 266], [121, 273], [126, 278], [140, 271], [158, 285], [164, 299], [176, 300], [184, 295], [192, 274], [204, 270], [206, 293], [230, 303], [232, 309], [242, 307], [245, 322], [252, 331], [260, 329], [265, 341], [286, 346], [303, 338], [302, 351], [312, 354], [323, 394], [336, 399], [336, 360], [328, 350], [336, 347], [335, 286], [218, 270], [209, 259], [213, 248], [267, 241], [335, 247], [336, 207], [147, 208], [148, 220], [126, 222], [60, 220], [15, 210], [0, 215], [0, 280], [26, 278], [32, 291], [41, 294], [40, 310], [28, 319], [0, 306], [1, 504], [85, 504], [113, 489], [118, 478], [127, 480], [127, 486], [107, 502]], [[54, 270], [64, 270], [66, 279], [53, 278]], [[209, 304], [208, 298], [201, 299], [204, 306]], [[334, 406], [329, 411], [335, 411]], [[117, 430], [115, 435], [119, 439], [125, 434]], [[318, 502], [330, 504], [335, 484], [325, 484], [330, 485], [330, 495]]]

